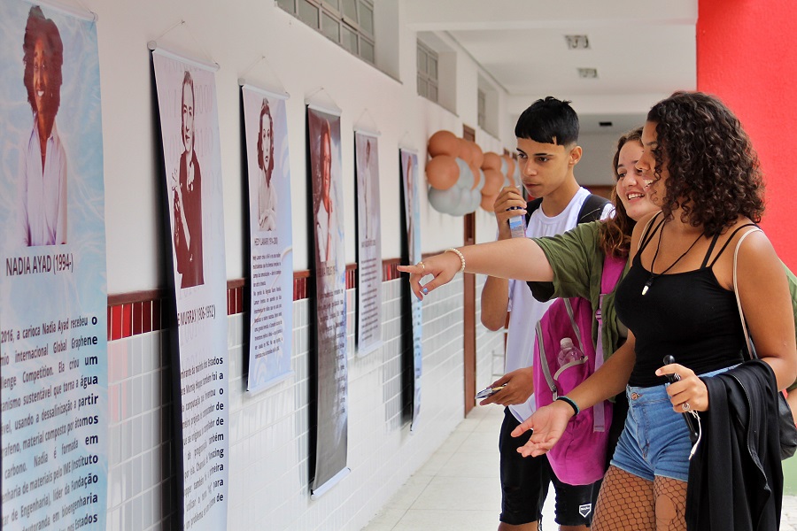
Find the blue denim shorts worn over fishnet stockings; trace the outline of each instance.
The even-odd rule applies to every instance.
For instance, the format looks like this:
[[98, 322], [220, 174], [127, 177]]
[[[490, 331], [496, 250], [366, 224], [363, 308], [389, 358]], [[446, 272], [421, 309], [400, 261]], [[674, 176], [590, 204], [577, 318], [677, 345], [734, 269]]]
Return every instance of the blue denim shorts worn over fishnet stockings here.
[[[730, 370], [726, 367], [700, 377]], [[678, 481], [689, 478], [692, 442], [684, 413], [674, 412], [669, 401], [669, 383], [654, 387], [628, 386], [628, 416], [617, 443], [612, 465], [647, 481], [663, 476]]]

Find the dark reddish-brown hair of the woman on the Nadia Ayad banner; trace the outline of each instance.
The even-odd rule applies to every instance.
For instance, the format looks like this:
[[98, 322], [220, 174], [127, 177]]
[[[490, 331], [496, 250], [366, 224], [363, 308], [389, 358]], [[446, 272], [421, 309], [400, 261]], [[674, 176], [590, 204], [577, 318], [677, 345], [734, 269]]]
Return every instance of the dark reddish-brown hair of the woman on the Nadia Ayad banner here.
[[58, 32], [58, 26], [56, 26], [55, 22], [46, 18], [42, 8], [35, 5], [27, 13], [25, 37], [22, 41], [22, 51], [24, 53], [22, 63], [25, 65], [25, 71], [22, 73], [22, 82], [25, 83], [25, 89], [27, 90], [27, 103], [30, 104], [33, 112], [39, 112], [36, 109], [33, 79], [34, 49], [36, 41], [39, 40], [44, 43], [45, 64], [50, 73], [50, 86], [48, 86], [50, 94], [45, 96], [52, 100], [52, 116], [55, 117], [58, 113], [58, 107], [61, 105], [61, 83], [63, 82], [61, 66], [64, 65], [64, 43], [61, 42], [61, 34]]

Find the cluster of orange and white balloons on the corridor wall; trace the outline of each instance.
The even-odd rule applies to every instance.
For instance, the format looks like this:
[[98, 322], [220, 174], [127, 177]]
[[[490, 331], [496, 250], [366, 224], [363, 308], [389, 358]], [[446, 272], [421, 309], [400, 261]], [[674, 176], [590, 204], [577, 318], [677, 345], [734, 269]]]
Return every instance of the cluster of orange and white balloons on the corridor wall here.
[[502, 187], [515, 183], [515, 161], [488, 151], [476, 142], [440, 130], [429, 136], [429, 204], [437, 212], [463, 216], [479, 206], [492, 212]]

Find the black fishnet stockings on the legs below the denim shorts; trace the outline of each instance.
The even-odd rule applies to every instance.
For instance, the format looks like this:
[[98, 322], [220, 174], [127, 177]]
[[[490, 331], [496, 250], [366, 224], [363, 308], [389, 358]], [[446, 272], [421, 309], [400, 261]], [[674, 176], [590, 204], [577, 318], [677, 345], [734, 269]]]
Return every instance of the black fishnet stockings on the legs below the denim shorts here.
[[609, 466], [595, 507], [592, 531], [685, 531], [686, 482], [654, 481]]

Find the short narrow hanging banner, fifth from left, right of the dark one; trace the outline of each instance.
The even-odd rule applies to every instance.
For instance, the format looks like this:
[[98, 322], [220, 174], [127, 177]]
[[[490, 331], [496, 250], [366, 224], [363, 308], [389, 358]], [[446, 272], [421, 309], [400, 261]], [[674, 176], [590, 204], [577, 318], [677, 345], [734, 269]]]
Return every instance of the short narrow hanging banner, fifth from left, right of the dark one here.
[[357, 354], [382, 346], [382, 231], [375, 135], [354, 134], [357, 163]]

